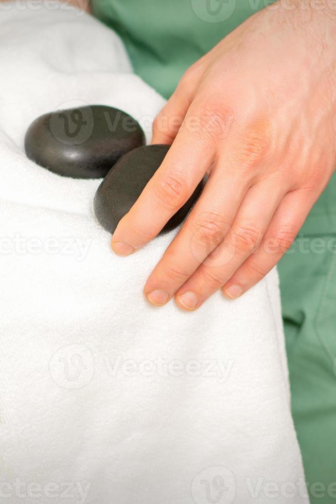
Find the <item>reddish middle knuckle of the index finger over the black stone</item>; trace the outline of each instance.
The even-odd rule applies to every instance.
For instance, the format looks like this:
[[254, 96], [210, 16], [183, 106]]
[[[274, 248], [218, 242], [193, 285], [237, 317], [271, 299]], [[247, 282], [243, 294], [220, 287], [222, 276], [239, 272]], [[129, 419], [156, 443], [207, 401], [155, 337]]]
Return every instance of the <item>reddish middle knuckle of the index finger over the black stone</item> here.
[[154, 195], [160, 204], [176, 209], [188, 199], [189, 188], [182, 176], [165, 174], [154, 185]]

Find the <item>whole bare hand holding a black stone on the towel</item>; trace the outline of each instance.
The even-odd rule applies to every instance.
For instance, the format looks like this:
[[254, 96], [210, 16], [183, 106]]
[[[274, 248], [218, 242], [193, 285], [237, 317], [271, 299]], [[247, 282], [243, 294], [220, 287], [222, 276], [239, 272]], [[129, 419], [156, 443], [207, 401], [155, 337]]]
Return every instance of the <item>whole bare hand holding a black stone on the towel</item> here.
[[172, 147], [120, 221], [114, 250], [154, 238], [209, 176], [146, 283], [155, 305], [175, 296], [193, 310], [220, 288], [229, 298], [250, 289], [332, 175], [336, 12], [286, 6], [250, 17], [194, 64], [155, 120], [153, 143]]

